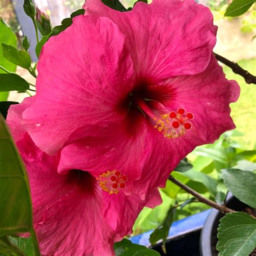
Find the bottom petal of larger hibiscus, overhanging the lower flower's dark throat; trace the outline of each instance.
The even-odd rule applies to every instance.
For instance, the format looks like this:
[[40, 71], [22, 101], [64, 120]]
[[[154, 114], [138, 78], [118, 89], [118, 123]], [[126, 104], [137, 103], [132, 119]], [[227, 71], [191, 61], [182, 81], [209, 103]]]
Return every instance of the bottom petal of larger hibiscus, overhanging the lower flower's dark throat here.
[[121, 122], [101, 125], [86, 125], [71, 135], [73, 143], [62, 149], [58, 172], [79, 169], [99, 176], [107, 170], [118, 170], [128, 177], [129, 188], [140, 177], [143, 158], [151, 151], [151, 142], [145, 141], [146, 119], [137, 111]]

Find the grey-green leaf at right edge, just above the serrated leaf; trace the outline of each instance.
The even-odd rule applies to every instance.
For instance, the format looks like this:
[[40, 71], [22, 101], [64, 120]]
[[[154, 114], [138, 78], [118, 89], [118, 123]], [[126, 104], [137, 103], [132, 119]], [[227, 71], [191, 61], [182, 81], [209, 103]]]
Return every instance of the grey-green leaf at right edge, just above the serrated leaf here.
[[226, 187], [243, 203], [256, 208], [256, 174], [239, 169], [222, 170]]

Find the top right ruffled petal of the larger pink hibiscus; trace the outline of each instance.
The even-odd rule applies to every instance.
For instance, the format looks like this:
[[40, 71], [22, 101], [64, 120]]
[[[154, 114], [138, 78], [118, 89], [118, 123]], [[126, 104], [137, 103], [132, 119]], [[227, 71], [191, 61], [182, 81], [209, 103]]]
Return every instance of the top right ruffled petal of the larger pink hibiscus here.
[[127, 35], [127, 47], [140, 77], [152, 79], [193, 75], [205, 70], [216, 27], [210, 9], [194, 0], [138, 2], [119, 12], [100, 0], [87, 0], [85, 15], [105, 16]]

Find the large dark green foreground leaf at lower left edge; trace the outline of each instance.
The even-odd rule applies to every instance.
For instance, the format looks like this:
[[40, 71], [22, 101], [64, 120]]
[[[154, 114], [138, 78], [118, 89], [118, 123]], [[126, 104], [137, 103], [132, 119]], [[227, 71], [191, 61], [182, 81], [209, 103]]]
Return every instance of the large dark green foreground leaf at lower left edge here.
[[30, 232], [40, 255], [32, 225], [32, 203], [25, 167], [0, 114], [0, 237]]

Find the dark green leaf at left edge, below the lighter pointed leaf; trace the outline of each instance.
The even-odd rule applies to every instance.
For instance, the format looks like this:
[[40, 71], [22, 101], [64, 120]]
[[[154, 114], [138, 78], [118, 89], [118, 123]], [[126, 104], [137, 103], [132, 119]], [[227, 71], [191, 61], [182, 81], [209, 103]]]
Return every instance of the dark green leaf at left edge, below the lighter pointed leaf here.
[[29, 84], [22, 77], [10, 73], [0, 74], [0, 92], [28, 90]]

